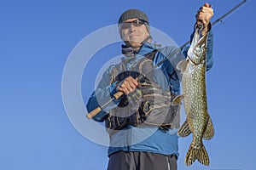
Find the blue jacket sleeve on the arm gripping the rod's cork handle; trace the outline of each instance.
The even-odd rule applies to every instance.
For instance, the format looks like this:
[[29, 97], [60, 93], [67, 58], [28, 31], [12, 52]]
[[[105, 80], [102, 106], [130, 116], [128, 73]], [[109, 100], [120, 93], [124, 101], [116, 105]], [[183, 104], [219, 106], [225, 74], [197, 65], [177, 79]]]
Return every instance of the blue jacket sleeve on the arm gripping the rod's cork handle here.
[[[110, 83], [110, 78], [108, 71], [105, 71], [103, 74], [101, 82], [99, 82], [98, 87], [96, 90], [90, 95], [90, 98], [88, 99], [86, 109], [88, 112], [93, 111], [97, 107], [101, 107], [102, 105], [106, 104], [110, 99], [113, 98], [113, 94], [115, 94], [116, 91], [116, 83], [113, 84]], [[108, 112], [111, 111], [113, 108], [117, 107], [119, 105], [119, 99], [113, 99], [108, 105], [102, 108], [102, 110], [96, 114], [92, 119], [96, 122], [103, 122], [105, 118], [108, 116]]]

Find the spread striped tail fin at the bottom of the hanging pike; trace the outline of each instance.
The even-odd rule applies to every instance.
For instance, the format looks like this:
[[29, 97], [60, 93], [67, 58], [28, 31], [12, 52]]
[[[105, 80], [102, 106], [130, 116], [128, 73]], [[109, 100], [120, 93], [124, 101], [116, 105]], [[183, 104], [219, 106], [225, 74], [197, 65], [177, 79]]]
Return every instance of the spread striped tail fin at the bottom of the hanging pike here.
[[185, 163], [187, 166], [190, 166], [195, 160], [198, 160], [201, 164], [206, 166], [210, 164], [207, 150], [203, 144], [200, 149], [195, 148], [193, 143], [190, 144]]

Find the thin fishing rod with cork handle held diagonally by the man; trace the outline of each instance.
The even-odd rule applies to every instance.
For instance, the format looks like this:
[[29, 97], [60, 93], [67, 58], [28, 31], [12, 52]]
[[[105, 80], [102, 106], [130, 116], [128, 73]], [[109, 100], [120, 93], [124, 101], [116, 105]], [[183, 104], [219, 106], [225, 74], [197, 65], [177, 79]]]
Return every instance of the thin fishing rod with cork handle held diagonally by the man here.
[[[237, 8], [241, 7], [241, 5], [243, 3], [246, 3], [247, 0], [243, 0], [241, 1], [241, 3], [237, 4], [234, 8], [231, 8], [227, 13], [223, 14], [222, 16], [220, 16], [217, 20], [214, 20], [212, 22], [212, 26], [216, 25], [218, 22], [222, 22], [224, 23], [223, 19], [226, 18], [228, 15], [230, 15], [232, 12], [234, 12]], [[177, 52], [179, 52], [182, 48], [186, 47], [189, 44], [190, 41], [185, 42], [180, 48], [177, 48], [176, 50], [174, 50], [172, 52], [172, 54], [169, 54], [168, 56], [166, 56], [165, 59], [161, 60], [159, 63], [157, 63], [156, 65], [154, 65], [154, 67], [152, 67], [152, 69], [150, 69], [148, 72], [146, 72], [144, 74], [144, 76], [142, 74], [140, 74], [139, 77], [137, 77], [137, 81], [140, 80], [141, 78], [145, 77], [146, 75], [148, 75], [148, 73], [150, 73], [151, 71], [154, 71], [155, 68], [157, 68], [158, 66], [160, 66], [161, 64], [163, 64], [167, 59], [170, 59], [170, 57], [172, 57], [174, 54], [177, 54]], [[102, 111], [102, 108], [106, 107], [110, 102], [113, 101], [113, 99], [119, 99], [124, 93], [123, 92], [117, 92], [116, 94], [113, 94], [113, 98], [109, 99], [108, 102], [106, 102], [104, 105], [97, 107], [95, 110], [90, 111], [90, 113], [88, 113], [86, 115], [86, 117], [88, 119], [91, 119], [93, 116], [96, 116], [97, 113], [99, 113], [100, 111]]]

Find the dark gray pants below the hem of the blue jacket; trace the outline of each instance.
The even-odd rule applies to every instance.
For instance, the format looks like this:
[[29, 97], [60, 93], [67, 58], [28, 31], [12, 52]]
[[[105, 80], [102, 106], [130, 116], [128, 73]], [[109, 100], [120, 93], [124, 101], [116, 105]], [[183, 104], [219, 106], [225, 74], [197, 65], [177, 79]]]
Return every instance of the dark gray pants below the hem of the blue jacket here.
[[177, 157], [141, 151], [118, 151], [109, 157], [108, 170], [177, 170]]

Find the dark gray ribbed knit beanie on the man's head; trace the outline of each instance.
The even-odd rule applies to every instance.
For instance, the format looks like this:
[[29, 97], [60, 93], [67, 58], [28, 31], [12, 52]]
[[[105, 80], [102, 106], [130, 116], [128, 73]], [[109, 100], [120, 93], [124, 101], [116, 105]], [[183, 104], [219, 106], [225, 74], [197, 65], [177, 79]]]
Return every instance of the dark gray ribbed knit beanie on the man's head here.
[[148, 21], [148, 16], [147, 14], [143, 13], [143, 11], [136, 9], [136, 8], [131, 8], [126, 10], [121, 16], [119, 17], [119, 24], [124, 22], [125, 20], [128, 19], [139, 19], [139, 20], [145, 20], [145, 26], [147, 27], [148, 33], [149, 31], [149, 21]]

